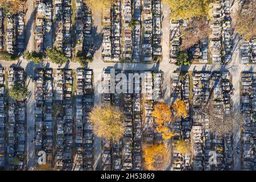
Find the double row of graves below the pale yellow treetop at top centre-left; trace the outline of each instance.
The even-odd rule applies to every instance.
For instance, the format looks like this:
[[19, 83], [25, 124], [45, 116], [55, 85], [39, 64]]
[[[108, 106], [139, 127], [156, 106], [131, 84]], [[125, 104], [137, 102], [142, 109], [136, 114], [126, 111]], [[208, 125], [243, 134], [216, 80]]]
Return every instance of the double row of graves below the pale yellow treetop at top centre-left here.
[[121, 56], [121, 1], [114, 0], [110, 10], [105, 10], [102, 19], [104, 61], [119, 61]]

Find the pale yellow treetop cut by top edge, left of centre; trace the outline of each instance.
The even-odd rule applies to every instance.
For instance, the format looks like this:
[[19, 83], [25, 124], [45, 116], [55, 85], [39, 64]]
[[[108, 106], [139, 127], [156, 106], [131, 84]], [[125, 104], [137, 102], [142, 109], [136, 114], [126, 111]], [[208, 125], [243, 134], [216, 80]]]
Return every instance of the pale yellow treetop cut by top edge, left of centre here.
[[105, 9], [110, 9], [113, 0], [84, 0], [85, 4], [91, 9], [92, 11], [100, 11], [101, 13], [104, 12]]

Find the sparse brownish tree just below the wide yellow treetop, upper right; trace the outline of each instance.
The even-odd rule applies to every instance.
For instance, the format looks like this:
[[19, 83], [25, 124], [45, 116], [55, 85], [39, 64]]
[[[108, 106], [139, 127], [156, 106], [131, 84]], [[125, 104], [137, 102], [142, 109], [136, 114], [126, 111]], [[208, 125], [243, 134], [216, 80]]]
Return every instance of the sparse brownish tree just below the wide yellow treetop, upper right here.
[[208, 24], [205, 24], [204, 18], [195, 18], [188, 23], [187, 27], [183, 27], [181, 30], [182, 43], [180, 50], [185, 51], [197, 44], [199, 41], [203, 41], [209, 34]]

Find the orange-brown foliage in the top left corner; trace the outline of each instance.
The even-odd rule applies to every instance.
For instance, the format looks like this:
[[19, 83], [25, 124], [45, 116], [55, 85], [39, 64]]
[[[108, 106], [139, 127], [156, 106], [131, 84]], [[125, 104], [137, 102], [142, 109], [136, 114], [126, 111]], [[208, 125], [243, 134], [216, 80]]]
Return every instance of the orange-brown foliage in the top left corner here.
[[0, 7], [5, 13], [19, 14], [24, 11], [25, 2], [21, 0], [0, 0]]

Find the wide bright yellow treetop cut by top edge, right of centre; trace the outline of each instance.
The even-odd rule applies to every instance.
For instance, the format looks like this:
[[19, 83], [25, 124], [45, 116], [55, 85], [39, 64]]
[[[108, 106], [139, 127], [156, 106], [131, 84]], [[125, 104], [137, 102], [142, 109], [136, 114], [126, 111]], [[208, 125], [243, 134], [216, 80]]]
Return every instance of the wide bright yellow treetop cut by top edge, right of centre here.
[[171, 8], [170, 18], [174, 20], [208, 16], [212, 0], [163, 0]]

